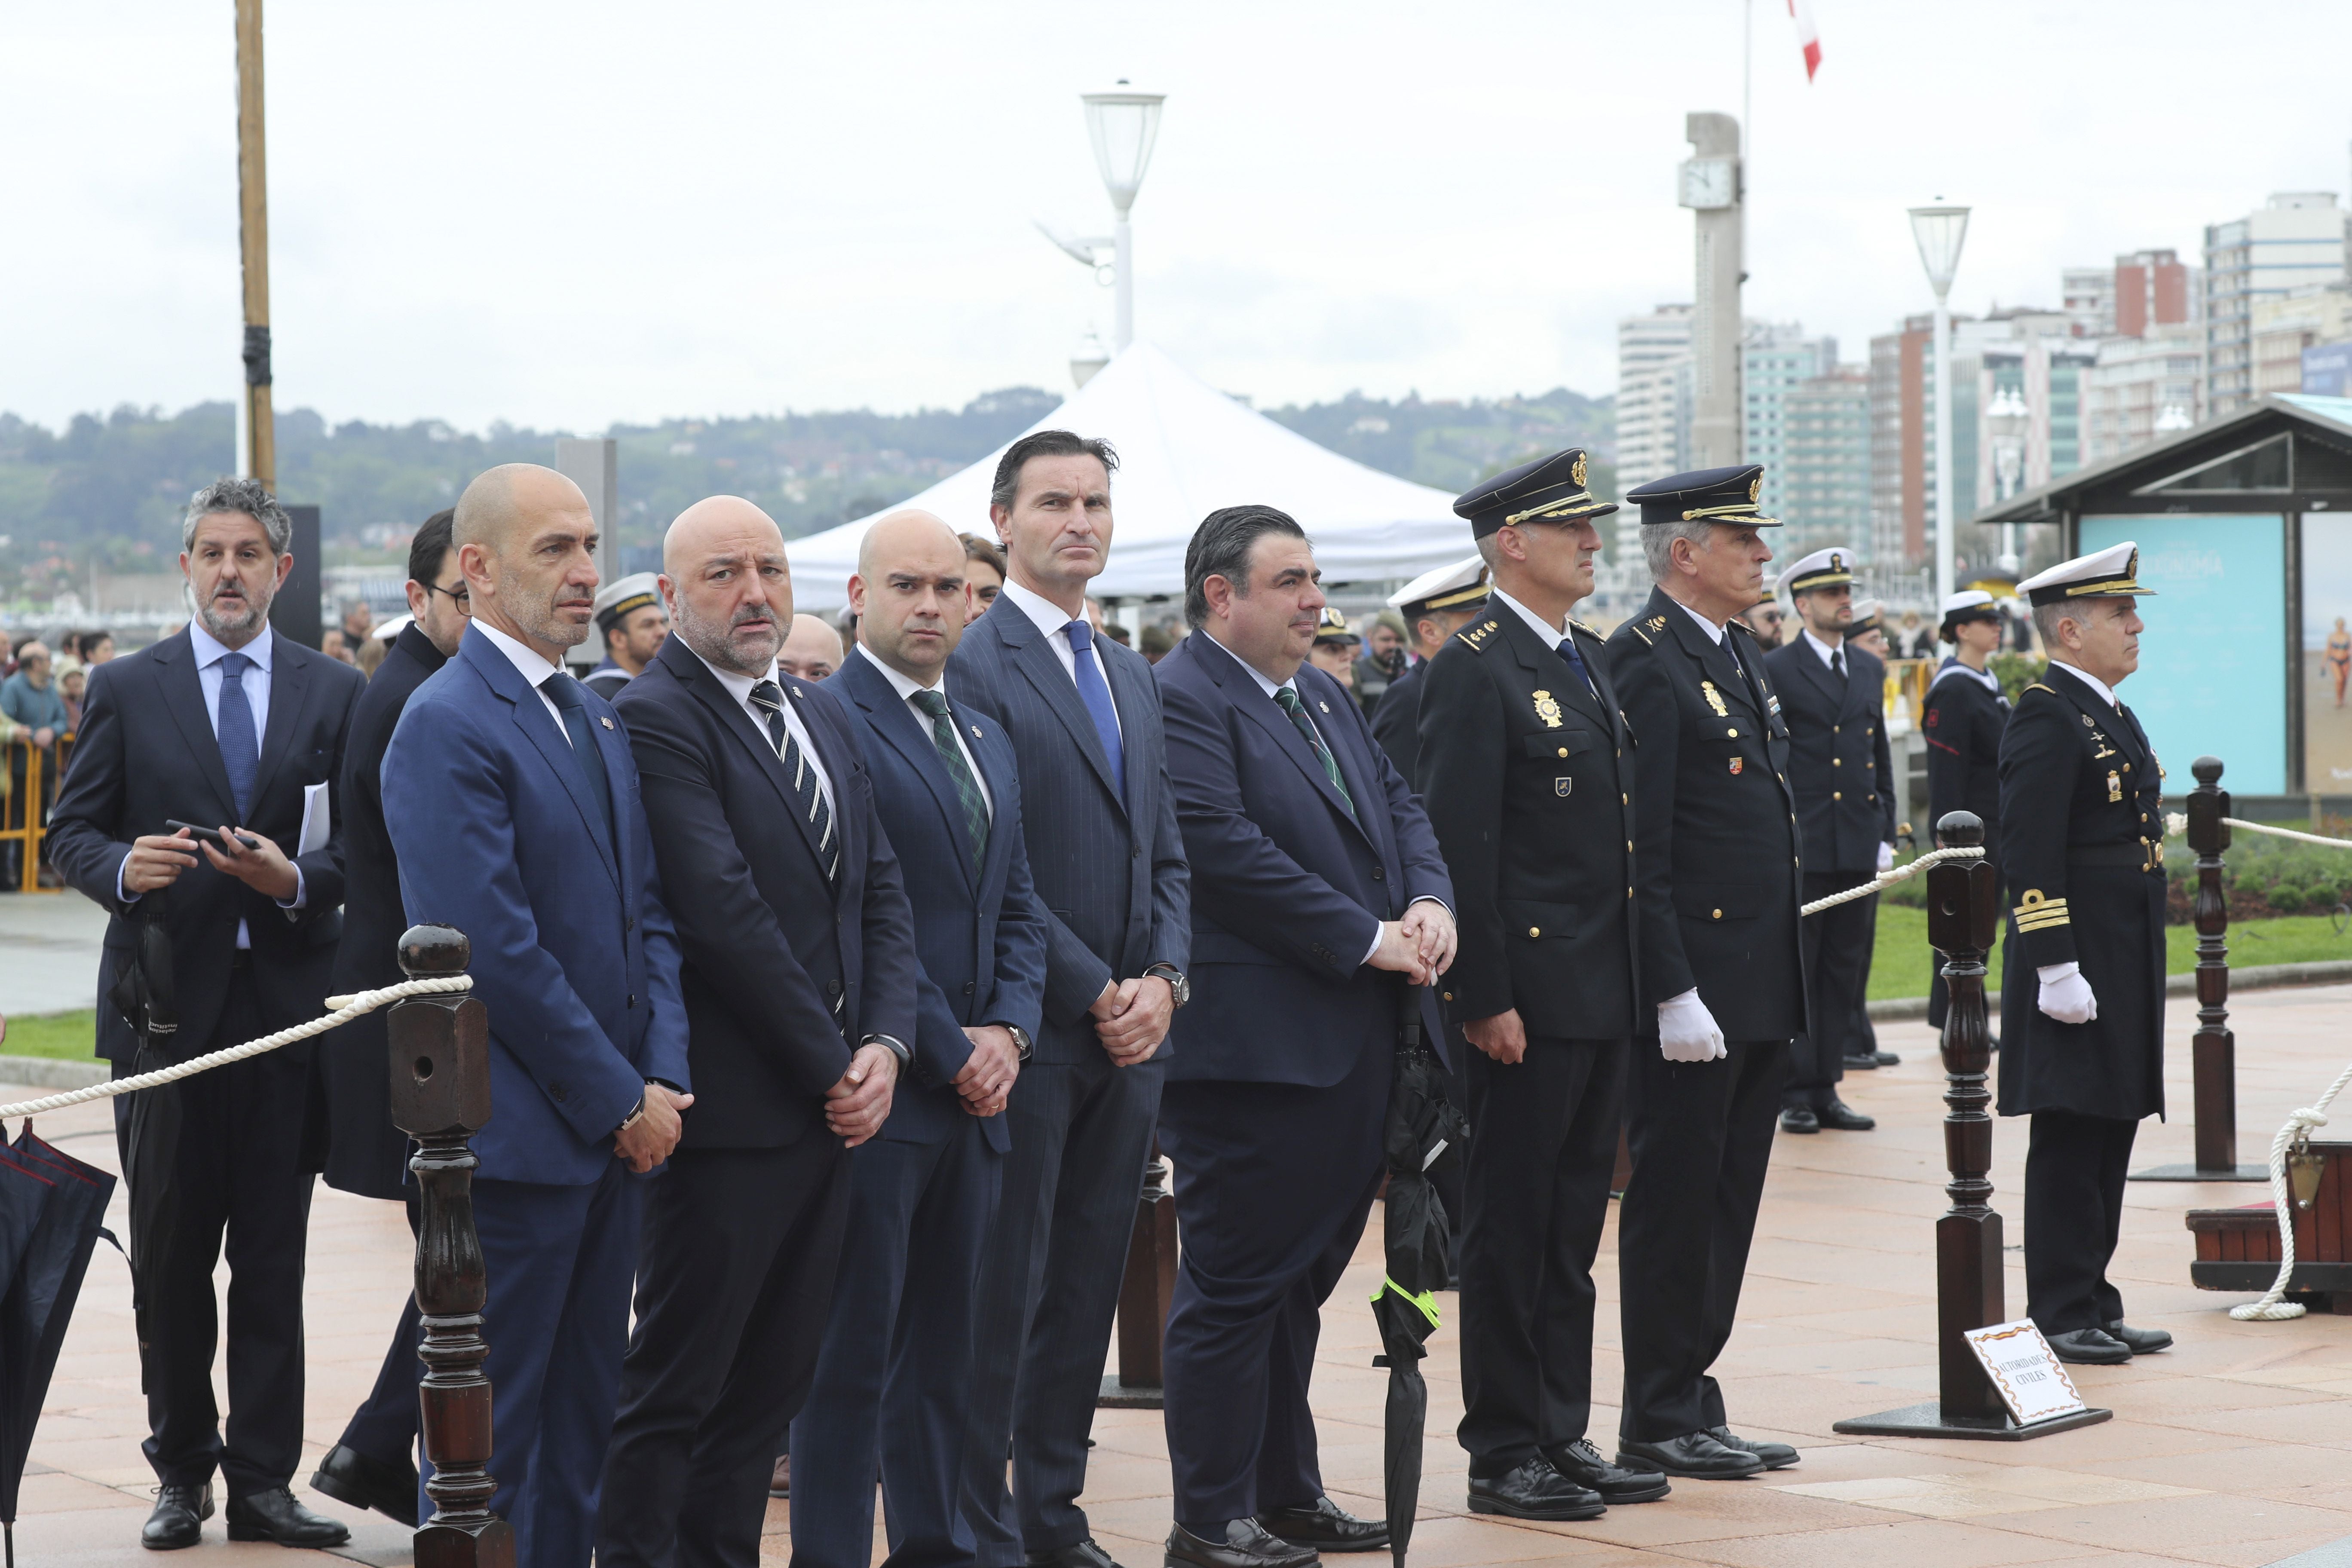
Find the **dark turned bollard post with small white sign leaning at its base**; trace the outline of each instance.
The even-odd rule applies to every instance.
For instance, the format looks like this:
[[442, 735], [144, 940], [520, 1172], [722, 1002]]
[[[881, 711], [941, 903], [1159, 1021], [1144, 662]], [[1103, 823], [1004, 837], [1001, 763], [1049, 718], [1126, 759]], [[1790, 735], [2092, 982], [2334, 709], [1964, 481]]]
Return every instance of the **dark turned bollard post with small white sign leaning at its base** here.
[[[1985, 823], [1952, 811], [1936, 823], [1945, 849], [1978, 849]], [[1945, 954], [1943, 987], [1943, 1164], [1952, 1206], [1936, 1220], [1936, 1394], [1933, 1403], [1832, 1422], [1856, 1436], [2027, 1439], [2107, 1420], [2079, 1410], [2018, 1427], [1962, 1338], [2009, 1321], [2002, 1276], [2002, 1215], [1992, 1208], [1992, 1030], [1985, 1009], [1985, 954], [1999, 919], [1990, 860], [1943, 860], [1926, 872], [1926, 940]]]

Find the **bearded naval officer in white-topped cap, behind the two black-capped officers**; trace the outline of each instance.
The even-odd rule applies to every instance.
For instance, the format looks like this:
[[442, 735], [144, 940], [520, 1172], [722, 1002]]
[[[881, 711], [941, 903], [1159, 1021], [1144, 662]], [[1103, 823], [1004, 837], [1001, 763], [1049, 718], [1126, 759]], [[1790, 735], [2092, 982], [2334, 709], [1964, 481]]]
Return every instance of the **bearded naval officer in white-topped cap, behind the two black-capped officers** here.
[[[1870, 882], [1896, 860], [1896, 769], [1886, 750], [1886, 665], [1846, 642], [1853, 623], [1853, 550], [1813, 550], [1780, 578], [1797, 609], [1797, 635], [1764, 656], [1788, 719], [1788, 783], [1804, 827], [1804, 900]], [[1851, 898], [1809, 914], [1799, 931], [1813, 1027], [1790, 1048], [1780, 1131], [1867, 1133], [1870, 1117], [1837, 1098], [1846, 1034], [1863, 994], [1875, 898]], [[1858, 1044], [1858, 1041], [1856, 1041]]]

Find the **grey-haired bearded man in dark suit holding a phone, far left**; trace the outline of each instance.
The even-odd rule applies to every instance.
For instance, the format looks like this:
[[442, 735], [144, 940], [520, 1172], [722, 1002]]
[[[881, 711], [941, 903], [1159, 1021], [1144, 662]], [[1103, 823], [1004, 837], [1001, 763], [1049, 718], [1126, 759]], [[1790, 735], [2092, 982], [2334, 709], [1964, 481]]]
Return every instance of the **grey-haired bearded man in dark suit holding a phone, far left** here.
[[[174, 1058], [315, 1018], [332, 990], [343, 903], [343, 802], [332, 780], [367, 682], [270, 630], [270, 599], [294, 567], [292, 531], [254, 480], [200, 489], [181, 524], [188, 630], [89, 672], [49, 853], [113, 914], [99, 961], [99, 1056], [118, 1074], [139, 1070], [139, 1044], [106, 1001], [134, 950], [134, 922], [160, 919], [172, 938]], [[167, 820], [219, 837], [167, 832]], [[174, 1222], [134, 1265], [146, 1455], [160, 1481], [146, 1547], [200, 1540], [214, 1472], [228, 1481], [230, 1540], [350, 1537], [287, 1486], [301, 1462], [313, 1072], [313, 1046], [294, 1044], [174, 1091], [183, 1112]], [[127, 1105], [115, 1100], [118, 1114]], [[132, 1168], [127, 1150], [122, 1164]], [[212, 1396], [223, 1237], [226, 1441]]]

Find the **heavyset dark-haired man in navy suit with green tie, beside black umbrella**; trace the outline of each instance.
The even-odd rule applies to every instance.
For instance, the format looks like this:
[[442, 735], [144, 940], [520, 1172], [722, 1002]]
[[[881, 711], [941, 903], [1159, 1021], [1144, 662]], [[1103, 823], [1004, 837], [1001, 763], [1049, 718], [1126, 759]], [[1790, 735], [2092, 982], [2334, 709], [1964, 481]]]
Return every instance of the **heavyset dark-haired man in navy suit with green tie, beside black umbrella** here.
[[1388, 1544], [1324, 1495], [1308, 1378], [1381, 1185], [1404, 1009], [1444, 1048], [1404, 980], [1454, 961], [1454, 886], [1362, 708], [1303, 663], [1317, 576], [1284, 512], [1209, 512], [1185, 550], [1195, 635], [1155, 670], [1200, 980], [1160, 1105], [1185, 1241], [1164, 1361], [1171, 1568]]

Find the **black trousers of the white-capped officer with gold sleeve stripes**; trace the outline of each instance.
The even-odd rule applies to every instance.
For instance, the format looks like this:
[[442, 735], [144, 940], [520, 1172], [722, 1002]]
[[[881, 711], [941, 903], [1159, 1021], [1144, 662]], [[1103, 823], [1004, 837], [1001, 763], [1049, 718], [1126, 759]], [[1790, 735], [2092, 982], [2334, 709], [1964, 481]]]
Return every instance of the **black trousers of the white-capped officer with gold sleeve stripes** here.
[[2124, 1225], [2124, 1173], [2138, 1121], [2037, 1110], [2025, 1147], [2025, 1316], [2042, 1333], [2103, 1328], [2124, 1316], [2107, 1284]]

